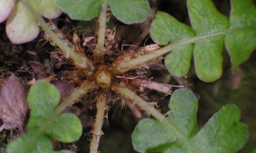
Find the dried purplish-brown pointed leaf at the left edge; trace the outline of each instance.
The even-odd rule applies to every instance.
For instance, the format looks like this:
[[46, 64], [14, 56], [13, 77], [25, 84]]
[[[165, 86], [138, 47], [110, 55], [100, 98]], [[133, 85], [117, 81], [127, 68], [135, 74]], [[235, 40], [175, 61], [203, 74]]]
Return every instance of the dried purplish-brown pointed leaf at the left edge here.
[[22, 129], [28, 106], [23, 86], [19, 79], [11, 74], [0, 91], [0, 118], [5, 129]]

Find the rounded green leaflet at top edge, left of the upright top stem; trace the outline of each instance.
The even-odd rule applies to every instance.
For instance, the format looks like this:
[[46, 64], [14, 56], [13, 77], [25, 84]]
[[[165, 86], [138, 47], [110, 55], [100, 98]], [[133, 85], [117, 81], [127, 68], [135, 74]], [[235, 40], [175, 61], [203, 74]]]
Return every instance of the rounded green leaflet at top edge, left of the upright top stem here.
[[57, 0], [57, 4], [73, 20], [91, 20], [98, 16], [103, 0]]

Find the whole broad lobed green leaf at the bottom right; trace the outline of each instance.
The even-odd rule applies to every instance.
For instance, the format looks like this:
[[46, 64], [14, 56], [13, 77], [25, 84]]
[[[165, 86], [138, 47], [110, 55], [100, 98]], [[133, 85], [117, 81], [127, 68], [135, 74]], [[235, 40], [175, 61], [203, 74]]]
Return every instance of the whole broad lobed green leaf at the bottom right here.
[[[198, 101], [188, 89], [174, 91], [168, 119], [187, 142], [176, 140], [169, 125], [153, 119], [140, 120], [132, 134], [134, 149], [140, 153], [235, 153], [248, 140], [247, 125], [240, 122], [236, 105], [226, 105], [212, 116], [198, 132], [196, 111]], [[160, 139], [160, 136], [162, 139]], [[183, 138], [184, 138], [183, 137]]]

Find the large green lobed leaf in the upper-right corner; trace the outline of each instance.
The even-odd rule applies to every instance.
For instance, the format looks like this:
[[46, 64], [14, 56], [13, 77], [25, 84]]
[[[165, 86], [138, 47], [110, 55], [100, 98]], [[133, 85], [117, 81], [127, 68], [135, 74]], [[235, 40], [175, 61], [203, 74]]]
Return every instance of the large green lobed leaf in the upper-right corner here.
[[186, 26], [162, 12], [157, 13], [150, 29], [152, 39], [158, 44], [166, 45], [168, 41], [170, 45], [185, 44], [170, 50], [165, 58], [165, 66], [174, 76], [182, 77], [189, 70], [192, 51], [188, 44], [194, 43], [191, 47], [196, 74], [205, 82], [213, 82], [222, 75], [224, 40], [232, 59], [232, 69], [245, 62], [256, 48], [256, 9], [250, 0], [232, 0], [229, 29], [227, 18], [216, 10], [211, 0], [187, 0], [187, 8], [196, 34], [194, 37], [189, 35], [192, 30], [185, 28], [184, 33], [180, 32], [181, 27]]

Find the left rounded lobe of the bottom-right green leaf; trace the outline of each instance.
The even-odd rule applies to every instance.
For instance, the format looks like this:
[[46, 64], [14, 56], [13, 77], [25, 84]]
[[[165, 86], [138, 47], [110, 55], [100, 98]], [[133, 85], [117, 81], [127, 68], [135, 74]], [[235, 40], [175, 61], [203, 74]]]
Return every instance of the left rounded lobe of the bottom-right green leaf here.
[[[163, 151], [164, 146], [176, 141], [174, 133], [168, 129], [163, 123], [153, 119], [142, 119], [136, 125], [131, 135], [134, 149], [140, 153], [148, 150]], [[161, 146], [157, 149], [157, 146]]]

